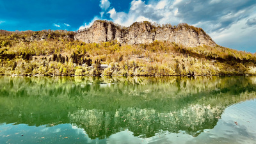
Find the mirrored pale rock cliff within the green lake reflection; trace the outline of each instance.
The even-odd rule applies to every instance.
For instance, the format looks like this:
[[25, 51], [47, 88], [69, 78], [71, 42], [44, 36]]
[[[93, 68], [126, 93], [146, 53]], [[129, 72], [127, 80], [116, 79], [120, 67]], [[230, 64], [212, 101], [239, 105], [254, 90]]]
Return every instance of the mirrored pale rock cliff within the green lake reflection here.
[[159, 130], [173, 133], [185, 131], [198, 136], [205, 127], [212, 129], [216, 125], [218, 116], [222, 113], [221, 109], [200, 105], [165, 113], [156, 112], [154, 109], [136, 108], [116, 109], [113, 113], [92, 109], [79, 110], [68, 117], [72, 124], [88, 132], [90, 138], [106, 138], [125, 129], [141, 138], [155, 136]]

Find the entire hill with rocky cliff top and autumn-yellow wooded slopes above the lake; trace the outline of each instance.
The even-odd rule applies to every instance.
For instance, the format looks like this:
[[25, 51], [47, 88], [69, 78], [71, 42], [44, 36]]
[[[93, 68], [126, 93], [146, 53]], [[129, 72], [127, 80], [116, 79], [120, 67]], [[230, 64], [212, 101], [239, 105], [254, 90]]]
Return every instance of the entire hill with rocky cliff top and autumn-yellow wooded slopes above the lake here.
[[0, 74], [255, 75], [256, 54], [221, 47], [188, 24], [135, 22], [126, 28], [97, 20], [77, 32], [0, 30]]

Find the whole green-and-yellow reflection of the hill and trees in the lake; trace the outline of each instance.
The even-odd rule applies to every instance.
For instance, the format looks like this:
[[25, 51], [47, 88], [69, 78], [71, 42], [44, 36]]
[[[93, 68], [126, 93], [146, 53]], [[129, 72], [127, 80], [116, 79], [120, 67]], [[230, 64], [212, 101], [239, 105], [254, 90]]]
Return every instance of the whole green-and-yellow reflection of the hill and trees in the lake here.
[[0, 85], [0, 124], [72, 124], [90, 140], [122, 131], [140, 138], [180, 131], [200, 138], [228, 106], [256, 97], [256, 77], [244, 76], [0, 76]]

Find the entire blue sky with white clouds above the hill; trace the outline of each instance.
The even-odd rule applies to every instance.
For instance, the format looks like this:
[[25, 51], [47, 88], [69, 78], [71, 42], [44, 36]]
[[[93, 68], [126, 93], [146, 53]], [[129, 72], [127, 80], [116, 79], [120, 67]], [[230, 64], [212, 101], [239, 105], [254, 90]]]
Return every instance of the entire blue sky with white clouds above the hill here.
[[8, 31], [76, 31], [97, 19], [187, 23], [218, 45], [256, 52], [256, 0], [0, 0], [0, 29]]

